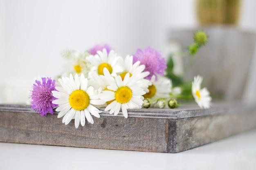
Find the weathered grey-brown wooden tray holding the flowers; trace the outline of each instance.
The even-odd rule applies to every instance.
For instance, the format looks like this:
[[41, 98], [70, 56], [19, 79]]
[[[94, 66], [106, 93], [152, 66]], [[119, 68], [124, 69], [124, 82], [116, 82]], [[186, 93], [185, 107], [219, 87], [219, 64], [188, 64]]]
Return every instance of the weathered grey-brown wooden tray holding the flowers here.
[[254, 105], [137, 109], [128, 110], [127, 119], [103, 111], [94, 124], [77, 129], [57, 114], [41, 117], [30, 106], [0, 105], [0, 141], [11, 143], [174, 153], [255, 127]]

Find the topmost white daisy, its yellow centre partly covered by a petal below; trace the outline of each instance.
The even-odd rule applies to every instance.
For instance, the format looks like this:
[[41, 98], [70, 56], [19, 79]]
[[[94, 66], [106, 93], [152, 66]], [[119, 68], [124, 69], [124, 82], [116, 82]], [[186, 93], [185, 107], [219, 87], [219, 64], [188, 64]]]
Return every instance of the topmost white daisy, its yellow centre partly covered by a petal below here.
[[103, 51], [97, 51], [96, 55], [86, 57], [86, 60], [92, 64], [92, 71], [96, 70], [99, 75], [103, 75], [103, 68], [107, 68], [110, 74], [115, 76], [122, 72], [120, 58], [113, 50], [108, 54], [107, 50], [103, 49]]

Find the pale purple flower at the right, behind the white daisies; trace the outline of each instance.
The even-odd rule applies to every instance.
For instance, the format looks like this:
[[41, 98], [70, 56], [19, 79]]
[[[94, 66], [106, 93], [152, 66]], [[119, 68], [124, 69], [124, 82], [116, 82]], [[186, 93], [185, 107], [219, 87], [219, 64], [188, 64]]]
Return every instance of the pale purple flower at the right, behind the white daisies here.
[[148, 47], [145, 49], [145, 51], [137, 49], [135, 55], [133, 56], [133, 63], [140, 61], [141, 65], [145, 65], [144, 71], [149, 71], [150, 74], [146, 77], [146, 79], [150, 80], [151, 77], [155, 75], [155, 80], [157, 80], [157, 74], [164, 75], [164, 70], [167, 68], [167, 66], [161, 53]]

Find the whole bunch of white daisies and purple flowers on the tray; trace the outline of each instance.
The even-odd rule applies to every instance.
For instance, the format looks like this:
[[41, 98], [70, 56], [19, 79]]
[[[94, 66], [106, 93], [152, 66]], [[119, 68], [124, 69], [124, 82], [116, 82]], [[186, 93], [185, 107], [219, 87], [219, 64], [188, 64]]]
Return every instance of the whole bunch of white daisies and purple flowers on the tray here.
[[[69, 66], [58, 81], [43, 77], [31, 90], [31, 108], [42, 116], [55, 110], [63, 123], [74, 119], [78, 128], [85, 126], [85, 120], [93, 124], [92, 115], [99, 118], [99, 108], [127, 118], [129, 109], [178, 105], [172, 96], [181, 90], [164, 76], [166, 62], [155, 49], [138, 49], [123, 58], [103, 45], [88, 51], [65, 50], [62, 55]], [[201, 83], [202, 77], [196, 76], [191, 92], [201, 108], [209, 108], [211, 97]]]

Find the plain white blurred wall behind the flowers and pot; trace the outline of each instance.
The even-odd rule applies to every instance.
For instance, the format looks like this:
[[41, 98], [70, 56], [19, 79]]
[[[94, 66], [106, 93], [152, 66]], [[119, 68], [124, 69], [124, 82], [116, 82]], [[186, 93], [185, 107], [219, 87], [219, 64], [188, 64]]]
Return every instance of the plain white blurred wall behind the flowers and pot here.
[[[242, 0], [238, 27], [256, 32], [255, 7]], [[125, 56], [151, 46], [166, 56], [168, 30], [195, 26], [195, 0], [0, 0], [0, 102], [23, 101], [34, 77], [61, 73], [65, 48], [109, 44]]]

